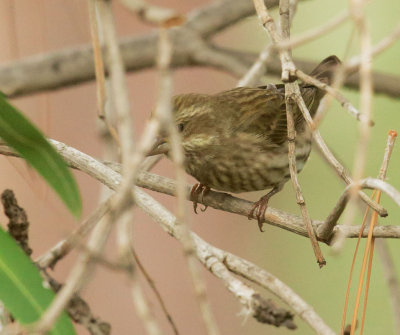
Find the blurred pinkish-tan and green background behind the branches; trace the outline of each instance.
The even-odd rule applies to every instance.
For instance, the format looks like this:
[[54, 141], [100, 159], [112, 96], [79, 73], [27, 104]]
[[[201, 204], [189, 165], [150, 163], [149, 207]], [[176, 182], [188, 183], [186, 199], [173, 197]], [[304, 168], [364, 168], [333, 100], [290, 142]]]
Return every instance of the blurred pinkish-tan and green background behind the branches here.
[[[250, 1], [250, 0], [249, 0]], [[152, 1], [171, 7], [186, 14], [203, 6], [208, 1]], [[140, 22], [118, 1], [114, 1], [118, 33], [121, 37], [139, 35], [154, 30]], [[344, 0], [301, 1], [293, 21], [292, 35], [323, 24], [345, 10]], [[277, 12], [274, 11], [276, 16]], [[389, 34], [399, 21], [400, 2], [396, 0], [371, 1], [367, 5], [368, 22], [372, 42], [375, 44]], [[89, 20], [86, 1], [61, 0], [0, 0], [0, 61], [5, 64], [35, 54], [46, 53], [61, 48], [76, 47], [90, 43]], [[256, 17], [250, 17], [232, 28], [223, 31], [215, 40], [239, 50], [258, 52], [268, 43], [266, 32]], [[359, 38], [351, 22], [327, 35], [294, 50], [296, 57], [316, 62], [331, 54], [348, 58], [359, 53]], [[400, 43], [376, 57], [375, 70], [397, 74]], [[137, 134], [141, 133], [155, 105], [157, 96], [157, 73], [147, 70], [127, 75], [132, 114]], [[277, 82], [278, 78], [266, 78], [266, 82]], [[211, 69], [178, 69], [174, 72], [175, 93], [214, 93], [236, 86], [237, 79]], [[359, 106], [356, 91], [343, 89], [343, 93], [355, 106]], [[40, 93], [12, 100], [50, 138], [65, 142], [94, 157], [101, 158], [103, 149], [99, 138], [99, 124], [96, 114], [96, 91], [94, 82], [69, 87], [50, 93]], [[369, 144], [367, 176], [376, 176], [382, 161], [389, 129], [400, 131], [400, 103], [398, 98], [375, 95], [373, 119]], [[358, 139], [358, 123], [349, 116], [337, 102], [333, 102], [321, 125], [321, 133], [333, 152], [348, 169], [352, 168], [354, 150]], [[31, 222], [30, 244], [37, 257], [65, 237], [78, 224], [63, 207], [53, 192], [30, 170], [24, 162], [0, 156], [0, 190], [13, 189], [20, 206], [24, 207]], [[388, 181], [400, 189], [400, 148], [395, 147], [388, 170]], [[172, 165], [162, 160], [154, 169], [155, 173], [173, 177]], [[90, 177], [75, 173], [79, 182], [86, 217], [98, 204], [101, 186]], [[343, 191], [344, 185], [320, 158], [313, 152], [303, 172], [300, 183], [307, 201], [311, 217], [324, 219], [333, 208]], [[188, 176], [188, 181], [194, 180]], [[152, 193], [165, 206], [173, 210], [173, 198]], [[241, 195], [257, 200], [261, 193]], [[386, 196], [382, 204], [388, 209], [389, 217], [381, 219], [381, 224], [400, 224], [400, 209]], [[334, 256], [329, 247], [321, 245], [327, 266], [319, 269], [308, 239], [266, 225], [260, 233], [256, 221], [245, 217], [219, 212], [209, 208], [205, 213], [195, 215], [192, 204], [187, 202], [192, 229], [211, 244], [246, 258], [265, 268], [300, 294], [335, 331], [340, 330], [340, 322], [347, 286], [347, 278], [355, 247], [355, 240], [348, 240], [340, 255]], [[270, 206], [293, 214], [299, 214], [290, 183], [274, 196]], [[174, 318], [181, 334], [205, 334], [205, 329], [194, 300], [193, 288], [188, 275], [180, 244], [164, 233], [144, 213], [136, 209], [134, 214], [134, 240], [136, 252], [142, 260], [155, 284], [158, 286], [167, 308]], [[1, 213], [1, 224], [7, 219]], [[360, 224], [361, 214], [355, 220]], [[397, 240], [388, 241], [393, 257], [400, 251]], [[112, 258], [115, 238], [107, 247]], [[55, 276], [60, 281], [66, 278], [76, 253], [60, 262]], [[395, 258], [400, 271], [400, 260]], [[399, 272], [398, 271], [398, 272]], [[225, 287], [207, 271], [203, 271], [207, 283], [212, 310], [215, 313], [221, 334], [289, 334], [285, 329], [261, 325], [252, 318], [241, 315], [241, 305]], [[358, 279], [358, 275], [355, 276]], [[356, 281], [356, 280], [354, 280]], [[165, 334], [172, 334], [167, 321], [144, 283], [149, 299]], [[353, 285], [355, 287], [355, 285]], [[261, 291], [265, 297], [273, 297]], [[354, 292], [354, 289], [353, 289]], [[388, 300], [388, 289], [383, 278], [378, 255], [375, 255], [367, 308], [365, 334], [393, 334], [393, 318]], [[98, 268], [93, 281], [84, 289], [92, 311], [112, 325], [112, 334], [142, 334], [144, 329], [135, 314], [127, 279], [118, 273]], [[274, 298], [275, 299], [275, 298]], [[280, 303], [280, 302], [279, 302]], [[283, 305], [283, 304], [282, 304]], [[285, 307], [283, 305], [283, 307]], [[299, 329], [295, 334], [310, 334], [312, 330], [295, 317]], [[86, 330], [79, 328], [80, 334]]]

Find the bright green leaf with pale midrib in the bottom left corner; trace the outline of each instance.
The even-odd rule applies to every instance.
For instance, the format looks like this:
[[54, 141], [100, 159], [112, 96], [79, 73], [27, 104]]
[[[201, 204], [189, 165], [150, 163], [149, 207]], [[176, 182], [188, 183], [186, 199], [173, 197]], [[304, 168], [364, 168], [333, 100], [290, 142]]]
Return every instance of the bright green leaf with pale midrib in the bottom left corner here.
[[[21, 324], [38, 321], [50, 305], [54, 293], [43, 285], [39, 270], [14, 239], [0, 228], [0, 300]], [[51, 335], [75, 334], [64, 312], [58, 318]]]

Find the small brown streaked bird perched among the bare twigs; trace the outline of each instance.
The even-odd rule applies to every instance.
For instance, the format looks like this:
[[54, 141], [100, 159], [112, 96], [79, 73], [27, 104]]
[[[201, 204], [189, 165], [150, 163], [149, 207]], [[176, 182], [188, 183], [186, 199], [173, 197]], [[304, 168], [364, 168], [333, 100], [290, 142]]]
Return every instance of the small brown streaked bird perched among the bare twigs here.
[[[340, 64], [338, 57], [329, 56], [310, 76], [330, 85]], [[299, 87], [314, 117], [325, 91], [307, 83], [300, 83]], [[181, 137], [184, 168], [198, 181], [191, 191], [194, 211], [197, 213], [199, 197], [202, 199], [210, 189], [231, 193], [271, 189], [248, 213], [248, 218], [256, 218], [263, 231], [269, 199], [290, 179], [285, 85], [180, 94], [172, 98], [172, 113]], [[293, 118], [299, 173], [311, 152], [312, 132], [297, 106]], [[169, 157], [169, 153], [168, 138], [160, 136], [148, 155]]]

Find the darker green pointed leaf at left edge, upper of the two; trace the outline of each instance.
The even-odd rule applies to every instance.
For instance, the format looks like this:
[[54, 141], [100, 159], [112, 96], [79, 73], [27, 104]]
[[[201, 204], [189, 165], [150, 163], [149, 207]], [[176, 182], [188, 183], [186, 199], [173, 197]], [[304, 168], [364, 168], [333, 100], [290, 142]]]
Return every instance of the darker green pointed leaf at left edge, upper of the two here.
[[42, 133], [0, 95], [0, 137], [17, 151], [79, 217], [82, 203], [67, 165]]

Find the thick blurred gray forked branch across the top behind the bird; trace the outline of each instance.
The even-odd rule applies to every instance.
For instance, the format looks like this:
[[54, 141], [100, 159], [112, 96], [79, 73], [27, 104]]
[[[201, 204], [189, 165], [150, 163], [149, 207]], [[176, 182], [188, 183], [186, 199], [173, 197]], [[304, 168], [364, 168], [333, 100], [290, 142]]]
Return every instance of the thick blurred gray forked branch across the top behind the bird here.
[[[273, 6], [277, 1], [267, 2]], [[241, 77], [257, 59], [257, 54], [218, 48], [206, 38], [253, 13], [252, 3], [248, 0], [224, 0], [192, 12], [186, 25], [171, 29], [174, 50], [171, 66], [207, 66]], [[128, 71], [137, 72], [155, 65], [156, 33], [121, 39], [120, 46]], [[294, 61], [306, 73], [316, 66], [311, 61]], [[268, 74], [280, 76], [278, 59], [271, 57], [267, 68]], [[0, 90], [8, 97], [54, 90], [94, 79], [90, 45], [35, 55], [0, 66]], [[358, 75], [353, 75], [345, 85], [358, 88], [358, 80]], [[373, 80], [375, 92], [400, 97], [399, 77], [375, 72]]]

